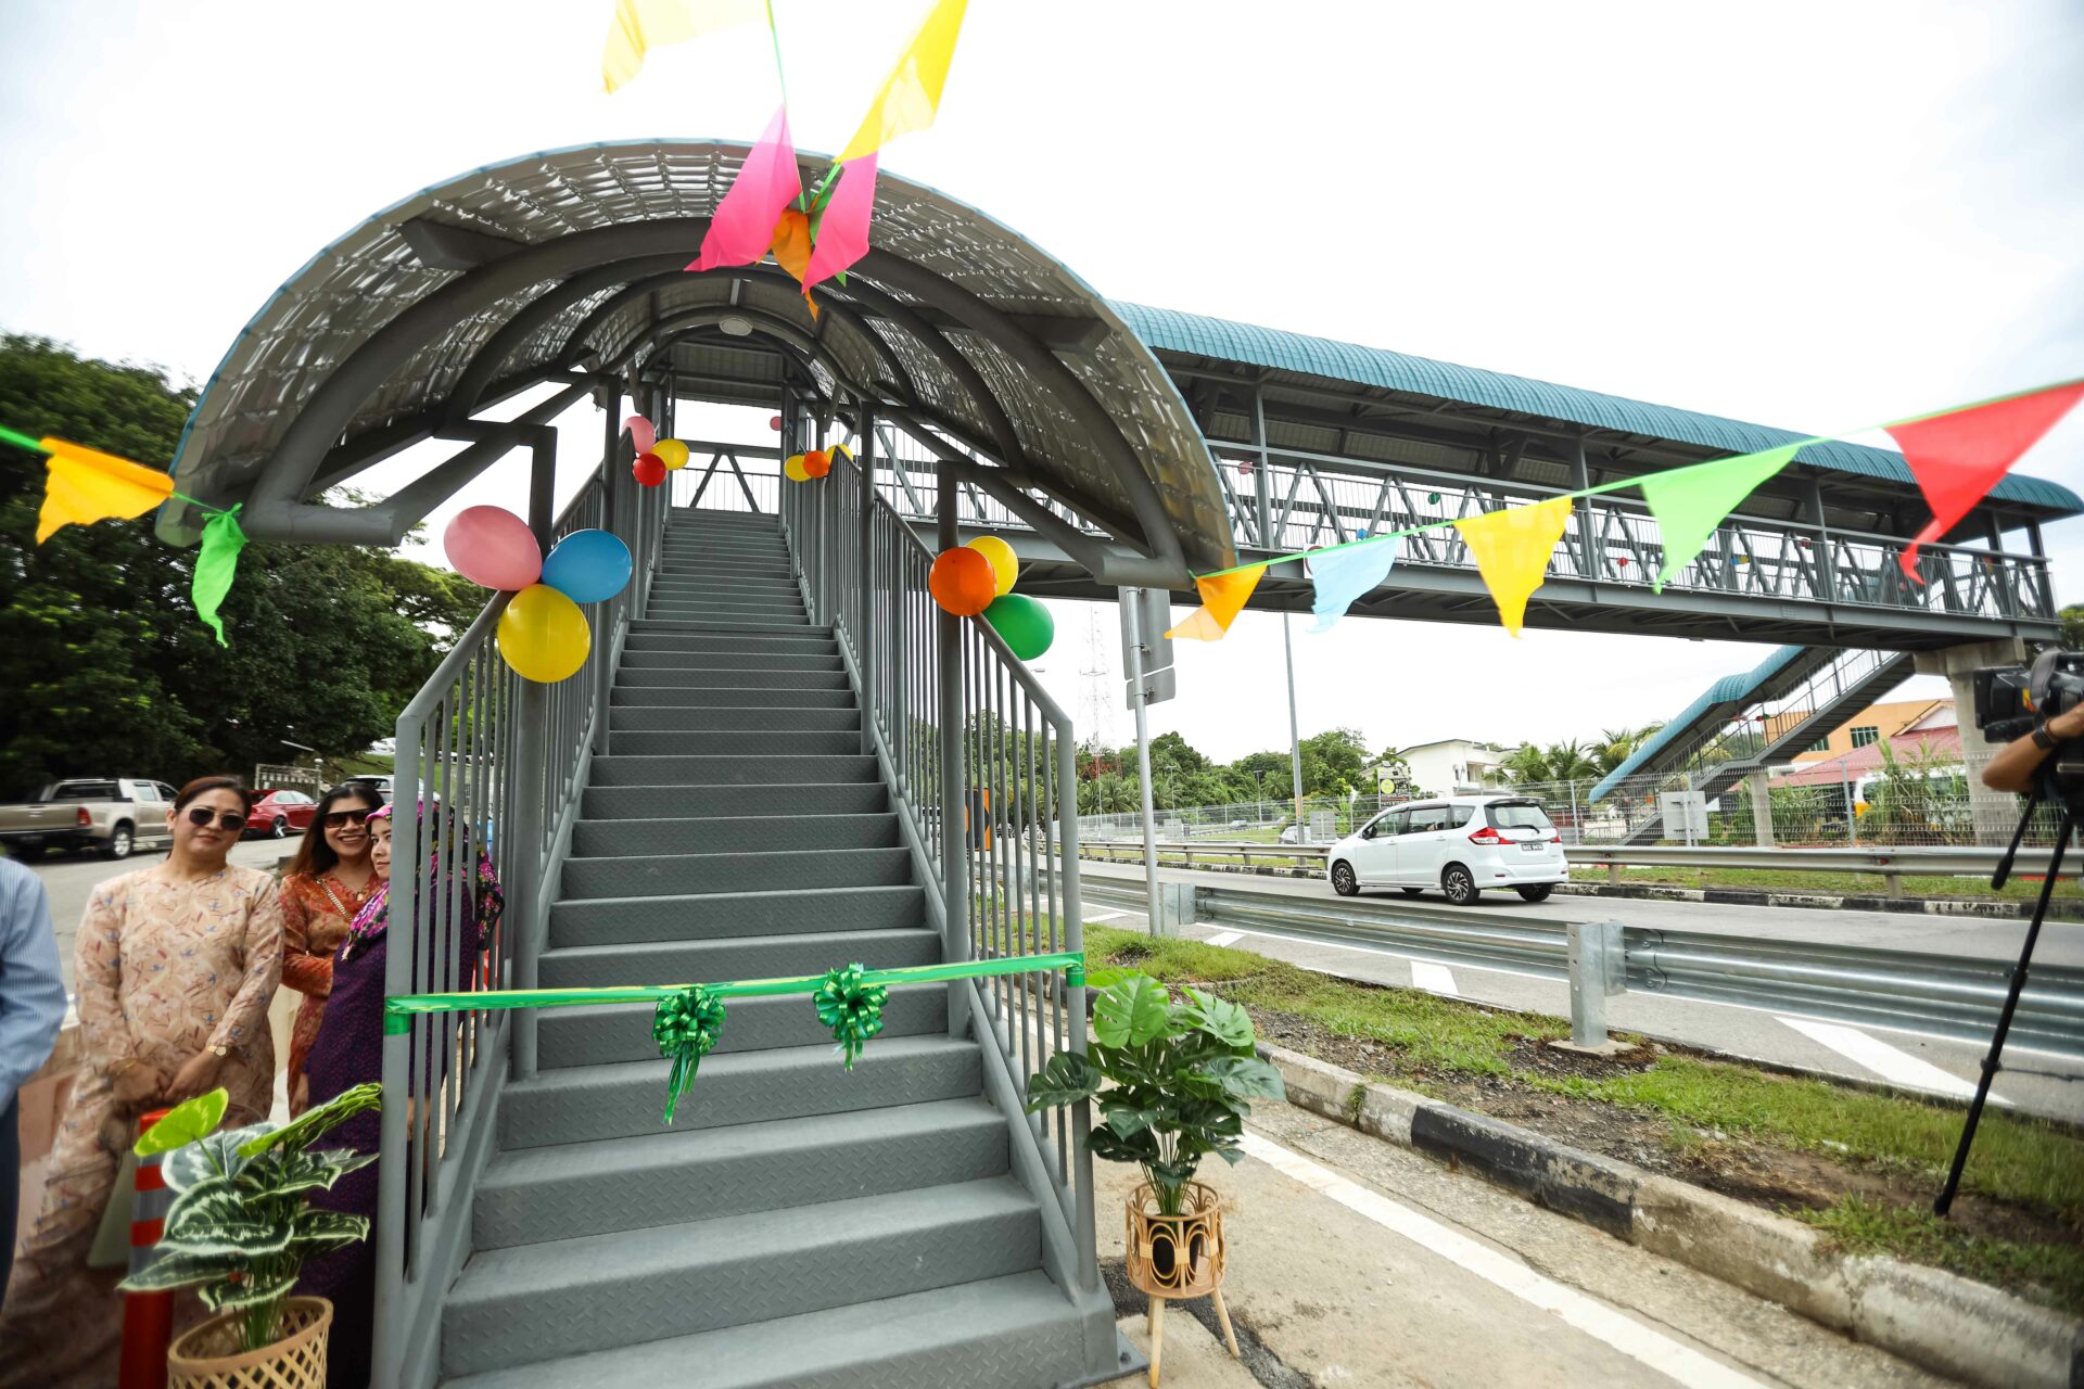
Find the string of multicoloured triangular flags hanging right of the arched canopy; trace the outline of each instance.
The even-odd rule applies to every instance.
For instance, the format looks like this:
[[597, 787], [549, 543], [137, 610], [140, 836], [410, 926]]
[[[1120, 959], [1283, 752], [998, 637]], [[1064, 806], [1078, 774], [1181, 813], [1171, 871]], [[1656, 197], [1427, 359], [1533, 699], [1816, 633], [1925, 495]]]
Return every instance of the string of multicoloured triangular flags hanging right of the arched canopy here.
[[[1917, 479], [1917, 489], [1932, 508], [1932, 521], [1917, 531], [1899, 556], [1903, 575], [1911, 583], [1924, 583], [1924, 577], [1917, 573], [1917, 552], [1926, 544], [1946, 535], [2080, 398], [2084, 398], [2084, 377], [1871, 427], [1888, 431], [1896, 441], [1903, 460], [1911, 469], [1911, 477]], [[1490, 589], [1490, 598], [1498, 608], [1498, 621], [1517, 637], [1525, 621], [1528, 600], [1546, 581], [1548, 562], [1555, 556], [1557, 541], [1563, 539], [1563, 531], [1569, 527], [1571, 508], [1578, 500], [1628, 487], [1642, 491], [1642, 500], [1651, 508], [1651, 514], [1657, 516], [1665, 541], [1665, 562], [1651, 579], [1651, 587], [1661, 594], [1671, 575], [1686, 569], [1701, 554], [1715, 527], [1744, 498], [1794, 462], [1801, 450], [1857, 433], [1865, 433], [1865, 429], [1813, 435], [1753, 454], [1713, 458], [1684, 469], [1651, 473], [1648, 477], [1628, 477], [1601, 483], [1598, 487], [1582, 487], [1542, 502], [1507, 506], [1455, 521], [1428, 521], [1400, 531], [1367, 535], [1317, 550], [1296, 550], [1196, 575], [1194, 587], [1200, 594], [1200, 606], [1165, 635], [1192, 641], [1221, 641], [1267, 569], [1292, 560], [1309, 560], [1313, 583], [1311, 612], [1317, 616], [1311, 631], [1325, 631], [1344, 616], [1355, 600], [1390, 575], [1403, 537], [1455, 527], [1469, 546], [1475, 569]]]

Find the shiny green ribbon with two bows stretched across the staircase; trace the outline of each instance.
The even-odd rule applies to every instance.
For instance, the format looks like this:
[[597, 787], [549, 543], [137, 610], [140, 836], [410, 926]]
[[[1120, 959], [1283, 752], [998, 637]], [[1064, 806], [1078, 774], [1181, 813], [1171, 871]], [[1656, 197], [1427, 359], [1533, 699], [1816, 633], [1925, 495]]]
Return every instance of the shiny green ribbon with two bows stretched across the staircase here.
[[848, 1070], [861, 1058], [861, 1047], [884, 1031], [884, 1006], [890, 985], [944, 983], [950, 979], [992, 979], [998, 975], [1029, 975], [1063, 970], [1065, 985], [1086, 983], [1086, 956], [1057, 952], [1042, 956], [1002, 956], [998, 960], [961, 960], [957, 964], [904, 964], [898, 968], [865, 968], [859, 960], [798, 979], [740, 979], [731, 983], [669, 983], [606, 989], [486, 989], [481, 993], [398, 993], [383, 1000], [383, 1035], [400, 1037], [413, 1029], [415, 1016], [440, 1012], [492, 1012], [506, 1008], [575, 1008], [586, 1004], [654, 1004], [652, 1041], [671, 1060], [663, 1122], [694, 1083], [694, 1075], [723, 1037], [723, 1002], [731, 997], [777, 997], [809, 993], [817, 1020], [832, 1029], [836, 1052]]

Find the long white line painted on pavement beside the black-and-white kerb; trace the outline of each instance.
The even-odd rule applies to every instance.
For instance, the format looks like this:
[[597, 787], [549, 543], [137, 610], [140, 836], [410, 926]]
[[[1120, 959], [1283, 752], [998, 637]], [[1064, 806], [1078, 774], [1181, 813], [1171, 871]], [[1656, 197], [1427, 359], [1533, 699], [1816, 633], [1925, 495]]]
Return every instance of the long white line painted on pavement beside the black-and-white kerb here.
[[1400, 1206], [1380, 1191], [1369, 1191], [1367, 1187], [1340, 1177], [1332, 1168], [1311, 1162], [1302, 1154], [1290, 1152], [1248, 1129], [1244, 1133], [1244, 1152], [1284, 1177], [1292, 1177], [1311, 1191], [1319, 1191], [1346, 1210], [1373, 1220], [1382, 1229], [1403, 1235], [1421, 1249], [1467, 1268], [1486, 1283], [1500, 1287], [1544, 1312], [1553, 1312], [1557, 1318], [1586, 1333], [1594, 1341], [1603, 1341], [1623, 1356], [1640, 1360], [1659, 1374], [1667, 1374], [1682, 1385], [1705, 1389], [1763, 1389], [1763, 1385], [1748, 1374], [1740, 1374], [1719, 1360], [1711, 1360], [1690, 1345], [1682, 1345], [1680, 1341], [1673, 1341], [1671, 1337], [1615, 1312], [1607, 1304], [1586, 1297], [1578, 1289], [1565, 1287], [1555, 1279], [1542, 1277], [1519, 1260], [1498, 1254], [1490, 1245], [1440, 1224], [1432, 1216], [1423, 1216], [1409, 1206]]

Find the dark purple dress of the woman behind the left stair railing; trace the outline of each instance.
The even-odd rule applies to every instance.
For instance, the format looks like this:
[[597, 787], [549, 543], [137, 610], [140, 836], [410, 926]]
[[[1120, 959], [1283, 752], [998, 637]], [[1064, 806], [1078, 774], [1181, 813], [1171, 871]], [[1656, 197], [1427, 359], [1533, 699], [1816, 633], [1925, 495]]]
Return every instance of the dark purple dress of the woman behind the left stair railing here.
[[[383, 962], [390, 958], [390, 931], [373, 941], [356, 941], [350, 935], [333, 954], [333, 993], [325, 1000], [325, 1020], [319, 1025], [311, 1058], [304, 1062], [313, 1106], [356, 1085], [383, 1079]], [[461, 941], [461, 958], [475, 964], [479, 931], [469, 893], [463, 898]], [[356, 948], [352, 956], [350, 948]], [[471, 987], [471, 966], [461, 970], [461, 987]], [[438, 1014], [436, 1035], [442, 1035], [444, 1022], [448, 1018]], [[431, 1066], [427, 1079], [433, 1079]], [[429, 1087], [423, 1085], [423, 1089]], [[392, 1097], [386, 1095], [383, 1102], [390, 1104]], [[319, 1147], [352, 1147], [373, 1154], [381, 1147], [379, 1131], [381, 1114], [365, 1110], [319, 1139]], [[342, 1177], [331, 1191], [311, 1193], [315, 1208], [369, 1216], [371, 1220], [369, 1239], [308, 1260], [296, 1283], [298, 1293], [329, 1297], [333, 1304], [333, 1329], [327, 1341], [327, 1385], [331, 1389], [363, 1389], [369, 1383], [369, 1341], [375, 1335], [377, 1166], [371, 1162]]]

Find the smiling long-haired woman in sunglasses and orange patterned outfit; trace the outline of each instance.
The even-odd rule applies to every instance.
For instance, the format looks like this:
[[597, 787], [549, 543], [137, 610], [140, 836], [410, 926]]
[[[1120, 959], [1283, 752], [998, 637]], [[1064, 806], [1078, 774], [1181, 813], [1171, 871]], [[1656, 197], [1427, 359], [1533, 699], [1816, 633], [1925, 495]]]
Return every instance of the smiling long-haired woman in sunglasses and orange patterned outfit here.
[[281, 877], [281, 981], [304, 995], [290, 1027], [290, 1114], [311, 1104], [304, 1058], [333, 991], [333, 950], [383, 881], [369, 858], [369, 816], [381, 806], [358, 781], [327, 791]]

